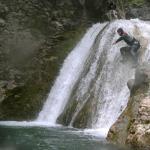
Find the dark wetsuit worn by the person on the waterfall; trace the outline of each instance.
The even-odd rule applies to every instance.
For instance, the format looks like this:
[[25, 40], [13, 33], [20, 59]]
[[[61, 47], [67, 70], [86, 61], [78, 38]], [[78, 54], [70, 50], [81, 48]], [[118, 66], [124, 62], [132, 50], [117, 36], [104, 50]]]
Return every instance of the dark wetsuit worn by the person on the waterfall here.
[[123, 33], [121, 37], [116, 41], [116, 43], [124, 40], [128, 46], [122, 47], [120, 52], [123, 56], [125, 56], [126, 52], [129, 52], [133, 57], [134, 61], [137, 62], [137, 51], [140, 48], [140, 43], [134, 37], [129, 36], [127, 33]]

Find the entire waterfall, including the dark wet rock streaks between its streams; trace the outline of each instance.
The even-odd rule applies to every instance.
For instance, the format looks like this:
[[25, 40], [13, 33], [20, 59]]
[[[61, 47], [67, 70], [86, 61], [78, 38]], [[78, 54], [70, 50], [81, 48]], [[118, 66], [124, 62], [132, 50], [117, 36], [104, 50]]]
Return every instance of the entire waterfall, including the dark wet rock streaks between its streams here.
[[86, 133], [107, 135], [126, 107], [130, 95], [127, 81], [135, 73], [132, 61], [121, 62], [120, 48], [126, 44], [112, 45], [119, 37], [119, 27], [140, 41], [139, 63], [150, 61], [148, 22], [134, 19], [93, 25], [65, 59], [34, 122], [59, 123], [86, 128]]

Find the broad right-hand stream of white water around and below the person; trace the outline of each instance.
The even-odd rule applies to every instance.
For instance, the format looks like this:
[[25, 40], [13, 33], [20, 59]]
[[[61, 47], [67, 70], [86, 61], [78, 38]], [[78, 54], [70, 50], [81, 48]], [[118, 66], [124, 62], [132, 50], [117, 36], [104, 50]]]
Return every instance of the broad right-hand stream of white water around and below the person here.
[[[143, 52], [139, 63], [148, 61], [150, 59], [150, 25], [139, 20], [116, 21], [111, 24], [107, 32], [103, 35], [102, 40], [104, 41], [101, 40], [99, 49], [105, 49], [106, 46], [108, 47], [108, 43], [112, 44], [118, 38], [118, 35], [115, 34], [111, 42], [109, 42], [110, 39], [108, 40], [111, 37], [111, 33], [119, 27], [122, 27], [129, 34], [134, 35], [140, 40], [142, 47], [144, 47], [145, 53]], [[130, 95], [126, 83], [134, 77], [135, 69], [132, 67], [132, 64], [130, 62], [126, 62], [125, 64], [120, 63], [119, 49], [123, 44], [123, 42], [120, 42], [107, 49], [107, 61], [94, 87], [94, 95], [96, 95], [99, 103], [96, 117], [93, 120], [93, 128], [102, 130], [105, 136], [111, 125], [126, 107]], [[141, 51], [144, 49], [141, 49]]]

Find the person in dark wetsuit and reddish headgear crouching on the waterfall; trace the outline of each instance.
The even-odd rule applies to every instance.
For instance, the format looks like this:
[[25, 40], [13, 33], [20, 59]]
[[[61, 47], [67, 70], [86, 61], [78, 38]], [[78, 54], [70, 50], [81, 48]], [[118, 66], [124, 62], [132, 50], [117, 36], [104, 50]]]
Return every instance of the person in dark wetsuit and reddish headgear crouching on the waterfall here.
[[120, 38], [118, 38], [116, 42], [113, 43], [113, 45], [122, 40], [124, 40], [128, 44], [128, 46], [122, 47], [120, 49], [120, 52], [123, 56], [122, 61], [124, 62], [126, 60], [127, 54], [129, 54], [132, 57], [134, 63], [137, 64], [138, 63], [138, 49], [140, 48], [140, 42], [134, 37], [129, 36], [126, 32], [123, 31], [122, 28], [119, 28], [117, 30], [117, 33], [120, 35]]

